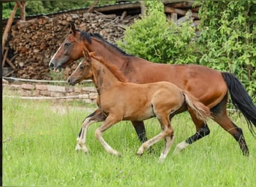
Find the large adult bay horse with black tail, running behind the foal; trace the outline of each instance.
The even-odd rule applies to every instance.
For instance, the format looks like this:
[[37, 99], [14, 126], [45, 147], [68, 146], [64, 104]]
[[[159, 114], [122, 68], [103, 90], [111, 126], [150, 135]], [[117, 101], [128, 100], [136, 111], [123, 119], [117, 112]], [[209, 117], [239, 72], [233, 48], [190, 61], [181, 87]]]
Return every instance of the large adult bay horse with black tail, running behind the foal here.
[[[239, 143], [244, 155], [249, 154], [243, 131], [234, 124], [227, 114], [228, 91], [232, 102], [248, 122], [249, 129], [255, 135], [256, 126], [256, 107], [251, 97], [246, 92], [240, 81], [231, 73], [220, 72], [200, 65], [171, 65], [156, 64], [128, 55], [117, 46], [112, 45], [100, 36], [100, 34], [90, 34], [79, 31], [75, 25], [71, 24], [70, 34], [59, 47], [58, 51], [49, 62], [49, 67], [54, 71], [60, 71], [61, 67], [72, 63], [83, 57], [83, 49], [89, 52], [96, 52], [103, 56], [107, 61], [112, 62], [124, 73], [129, 82], [149, 83], [167, 81], [177, 85], [183, 91], [191, 93], [198, 98], [204, 105], [207, 105], [213, 120], [219, 123], [223, 129], [229, 132]], [[185, 111], [186, 109], [184, 109]], [[198, 141], [209, 135], [210, 129], [207, 123], [198, 119], [192, 110], [188, 108], [189, 114], [195, 123], [196, 132], [185, 141], [177, 144], [176, 150], [183, 150], [189, 144]], [[180, 111], [182, 112], [182, 111]], [[100, 110], [94, 111], [86, 120], [103, 118]], [[145, 129], [143, 121], [132, 121], [133, 126], [141, 141], [145, 141]], [[81, 131], [80, 131], [81, 132]]]

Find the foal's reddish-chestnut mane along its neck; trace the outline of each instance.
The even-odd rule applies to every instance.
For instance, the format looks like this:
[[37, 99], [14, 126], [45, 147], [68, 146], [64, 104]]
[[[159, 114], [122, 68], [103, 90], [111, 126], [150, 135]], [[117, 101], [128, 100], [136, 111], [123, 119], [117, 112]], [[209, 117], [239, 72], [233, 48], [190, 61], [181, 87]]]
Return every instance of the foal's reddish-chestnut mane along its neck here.
[[128, 82], [127, 78], [121, 73], [120, 70], [118, 70], [115, 65], [109, 63], [106, 61], [103, 57], [96, 56], [94, 54], [91, 55], [92, 58], [95, 58], [97, 61], [100, 61], [101, 64], [103, 64], [106, 68], [109, 69], [111, 73], [121, 82]]

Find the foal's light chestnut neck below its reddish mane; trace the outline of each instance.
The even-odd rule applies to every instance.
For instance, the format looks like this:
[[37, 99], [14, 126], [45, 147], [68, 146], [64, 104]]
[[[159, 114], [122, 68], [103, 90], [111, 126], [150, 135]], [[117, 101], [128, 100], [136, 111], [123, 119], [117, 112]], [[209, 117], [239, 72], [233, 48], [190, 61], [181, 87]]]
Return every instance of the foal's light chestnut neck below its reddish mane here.
[[103, 91], [111, 90], [115, 85], [120, 83], [118, 78], [99, 61], [92, 63], [92, 72], [94, 74], [94, 85], [99, 95], [103, 93]]

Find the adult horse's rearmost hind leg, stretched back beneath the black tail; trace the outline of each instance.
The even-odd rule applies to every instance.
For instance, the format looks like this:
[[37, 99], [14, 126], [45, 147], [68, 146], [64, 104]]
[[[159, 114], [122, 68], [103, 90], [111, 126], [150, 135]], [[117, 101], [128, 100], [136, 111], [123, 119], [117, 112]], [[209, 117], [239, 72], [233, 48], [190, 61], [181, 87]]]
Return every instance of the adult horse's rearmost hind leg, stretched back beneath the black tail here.
[[236, 141], [240, 145], [240, 149], [243, 151], [243, 155], [248, 156], [249, 149], [246, 145], [246, 140], [243, 136], [242, 129], [235, 125], [228, 117], [226, 110], [227, 97], [228, 96], [225, 96], [225, 98], [222, 99], [222, 102], [220, 102], [218, 105], [216, 105], [216, 107], [211, 109], [211, 111], [213, 112], [213, 120], [215, 120], [216, 123], [219, 123], [219, 125], [222, 126], [223, 129], [229, 132], [236, 139]]

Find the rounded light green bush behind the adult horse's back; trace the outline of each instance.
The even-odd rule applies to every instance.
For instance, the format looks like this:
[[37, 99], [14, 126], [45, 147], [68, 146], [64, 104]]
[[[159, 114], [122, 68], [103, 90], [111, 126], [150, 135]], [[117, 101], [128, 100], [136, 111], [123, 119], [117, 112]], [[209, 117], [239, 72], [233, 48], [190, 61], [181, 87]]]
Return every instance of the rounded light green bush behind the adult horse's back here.
[[146, 1], [147, 11], [124, 33], [118, 46], [148, 61], [171, 64], [193, 63], [195, 30], [191, 22], [176, 25], [166, 19], [161, 1]]

